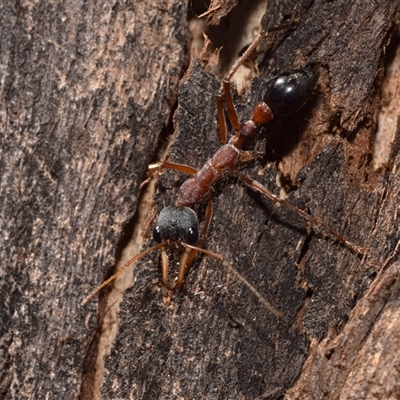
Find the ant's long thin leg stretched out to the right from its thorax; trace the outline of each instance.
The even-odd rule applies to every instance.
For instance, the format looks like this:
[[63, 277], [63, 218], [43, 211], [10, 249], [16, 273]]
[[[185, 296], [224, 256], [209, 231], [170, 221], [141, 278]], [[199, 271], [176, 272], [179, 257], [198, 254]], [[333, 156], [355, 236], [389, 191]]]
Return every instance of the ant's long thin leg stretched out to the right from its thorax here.
[[333, 237], [335, 237], [339, 243], [344, 244], [345, 246], [347, 246], [350, 250], [354, 251], [355, 253], [358, 253], [358, 254], [368, 253], [367, 248], [358, 246], [358, 245], [348, 241], [344, 236], [342, 236], [340, 233], [334, 231], [332, 228], [330, 228], [328, 225], [326, 225], [322, 220], [307, 214], [303, 210], [300, 210], [299, 208], [288, 203], [287, 201], [275, 196], [266, 187], [264, 187], [263, 185], [258, 183], [256, 180], [247, 178], [239, 171], [236, 171], [235, 174], [239, 179], [241, 179], [244, 183], [246, 183], [246, 185], [250, 186], [252, 189], [254, 189], [257, 192], [260, 192], [264, 196], [268, 197], [274, 203], [282, 204], [286, 208], [289, 208], [296, 214], [302, 216], [306, 221], [311, 222], [311, 224], [313, 224], [314, 226], [318, 226], [319, 228], [323, 229], [325, 232], [327, 232], [330, 235], [332, 235]]

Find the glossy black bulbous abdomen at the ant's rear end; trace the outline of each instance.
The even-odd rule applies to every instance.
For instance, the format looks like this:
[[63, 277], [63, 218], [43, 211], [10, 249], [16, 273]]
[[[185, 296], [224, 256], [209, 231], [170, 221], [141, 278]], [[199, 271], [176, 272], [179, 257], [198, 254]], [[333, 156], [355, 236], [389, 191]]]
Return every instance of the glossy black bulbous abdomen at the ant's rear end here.
[[293, 114], [310, 97], [317, 80], [318, 73], [306, 68], [279, 74], [267, 82], [263, 101], [275, 118]]

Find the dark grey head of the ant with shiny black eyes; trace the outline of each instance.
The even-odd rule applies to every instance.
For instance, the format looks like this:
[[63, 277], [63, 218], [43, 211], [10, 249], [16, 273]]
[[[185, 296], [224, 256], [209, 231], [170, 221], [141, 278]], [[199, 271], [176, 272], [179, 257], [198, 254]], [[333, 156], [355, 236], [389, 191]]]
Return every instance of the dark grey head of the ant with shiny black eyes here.
[[153, 238], [157, 243], [170, 240], [195, 244], [199, 237], [198, 225], [197, 215], [191, 208], [169, 206], [160, 212]]

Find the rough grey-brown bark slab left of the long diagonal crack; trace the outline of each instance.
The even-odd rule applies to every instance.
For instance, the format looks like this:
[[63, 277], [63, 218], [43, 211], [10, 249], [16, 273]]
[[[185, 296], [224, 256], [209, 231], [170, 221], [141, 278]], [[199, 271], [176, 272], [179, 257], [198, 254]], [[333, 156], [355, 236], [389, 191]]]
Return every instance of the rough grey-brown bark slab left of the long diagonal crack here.
[[170, 120], [187, 9], [0, 8], [0, 397], [78, 398], [97, 326], [96, 302], [80, 303], [114, 263]]

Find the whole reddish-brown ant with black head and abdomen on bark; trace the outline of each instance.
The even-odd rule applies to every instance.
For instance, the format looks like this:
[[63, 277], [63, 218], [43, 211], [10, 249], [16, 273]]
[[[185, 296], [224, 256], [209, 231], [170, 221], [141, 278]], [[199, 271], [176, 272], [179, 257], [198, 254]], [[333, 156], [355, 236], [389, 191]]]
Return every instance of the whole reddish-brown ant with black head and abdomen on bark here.
[[[199, 171], [187, 165], [174, 164], [170, 162], [161, 162], [155, 165], [155, 170], [168, 168], [191, 175], [182, 184], [175, 205], [168, 206], [160, 212], [157, 224], [153, 230], [153, 238], [157, 244], [133, 257], [119, 271], [94, 289], [84, 299], [82, 304], [86, 304], [96, 293], [112, 282], [130, 265], [136, 263], [154, 250], [161, 249], [162, 282], [170, 291], [179, 289], [182, 286], [190, 265], [194, 261], [197, 253], [201, 252], [221, 261], [229, 271], [239, 277], [239, 279], [266, 307], [266, 309], [275, 316], [281, 317], [282, 314], [271, 306], [244, 276], [242, 276], [229, 263], [226, 263], [221, 255], [202, 248], [213, 213], [211, 200], [212, 187], [216, 182], [228, 176], [238, 177], [250, 188], [268, 197], [275, 204], [284, 205], [293, 212], [302, 216], [312, 225], [325, 230], [338, 242], [347, 246], [352, 251], [360, 254], [365, 254], [368, 251], [366, 248], [357, 246], [348, 241], [345, 237], [327, 226], [322, 220], [312, 217], [285, 200], [275, 196], [266, 187], [257, 181], [246, 177], [237, 169], [239, 163], [251, 161], [258, 156], [255, 152], [243, 150], [243, 146], [248, 139], [256, 135], [261, 130], [262, 126], [270, 122], [273, 118], [291, 115], [298, 111], [306, 103], [317, 84], [318, 73], [311, 69], [300, 68], [291, 72], [279, 74], [266, 83], [263, 99], [254, 107], [251, 119], [243, 123], [239, 121], [231, 94], [232, 76], [268, 34], [286, 29], [290, 26], [292, 26], [292, 24], [282, 25], [261, 32], [245, 53], [235, 62], [229, 74], [223, 80], [222, 88], [217, 95], [217, 118], [222, 146], [217, 150], [214, 156], [208, 160]], [[234, 135], [228, 143], [226, 143], [227, 125], [223, 111], [224, 96], [228, 117], [234, 129]], [[152, 167], [150, 167], [150, 169], [152, 169]], [[202, 231], [199, 234], [198, 218], [191, 207], [203, 202], [207, 202], [207, 207], [205, 212], [205, 222]], [[168, 249], [181, 251], [178, 275], [171, 284], [169, 282]]]

